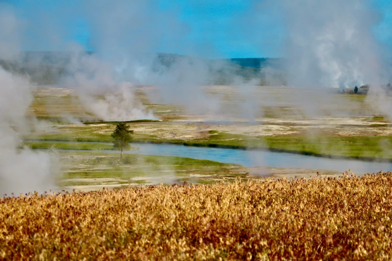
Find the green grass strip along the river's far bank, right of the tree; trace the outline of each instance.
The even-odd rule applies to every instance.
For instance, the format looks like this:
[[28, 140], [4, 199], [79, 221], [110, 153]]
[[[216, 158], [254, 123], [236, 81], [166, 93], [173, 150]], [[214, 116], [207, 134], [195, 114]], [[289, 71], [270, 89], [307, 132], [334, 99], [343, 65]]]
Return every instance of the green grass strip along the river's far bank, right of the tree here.
[[186, 145], [269, 149], [325, 157], [392, 160], [392, 136], [285, 135], [253, 137], [227, 134], [184, 142]]

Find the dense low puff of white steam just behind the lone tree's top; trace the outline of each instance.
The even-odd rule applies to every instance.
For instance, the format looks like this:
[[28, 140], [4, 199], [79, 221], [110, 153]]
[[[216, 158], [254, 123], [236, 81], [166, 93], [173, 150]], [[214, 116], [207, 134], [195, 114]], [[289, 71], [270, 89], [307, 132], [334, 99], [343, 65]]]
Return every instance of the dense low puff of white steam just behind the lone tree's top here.
[[135, 97], [135, 85], [117, 82], [112, 64], [96, 55], [75, 52], [63, 80], [74, 86], [80, 100], [105, 121], [155, 119]]

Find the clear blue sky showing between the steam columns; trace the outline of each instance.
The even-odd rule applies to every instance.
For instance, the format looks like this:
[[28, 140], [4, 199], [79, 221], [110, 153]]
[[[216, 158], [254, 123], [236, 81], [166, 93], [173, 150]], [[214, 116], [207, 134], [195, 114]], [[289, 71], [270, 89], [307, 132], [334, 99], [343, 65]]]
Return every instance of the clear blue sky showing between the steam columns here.
[[[154, 1], [154, 0], [152, 0]], [[12, 4], [25, 25], [23, 48], [61, 50], [77, 41], [89, 50], [92, 29], [83, 12], [83, 0], [0, 0]], [[113, 0], [116, 2], [116, 0]], [[215, 57], [277, 57], [284, 29], [273, 14], [255, 11], [257, 0], [155, 0], [162, 11], [172, 11], [186, 33], [177, 43], [154, 45], [151, 51]], [[377, 37], [391, 41], [392, 0], [374, 0], [382, 22]], [[48, 38], [49, 37], [49, 38]], [[181, 38], [181, 39], [179, 39]], [[50, 42], [50, 44], [49, 44]]]

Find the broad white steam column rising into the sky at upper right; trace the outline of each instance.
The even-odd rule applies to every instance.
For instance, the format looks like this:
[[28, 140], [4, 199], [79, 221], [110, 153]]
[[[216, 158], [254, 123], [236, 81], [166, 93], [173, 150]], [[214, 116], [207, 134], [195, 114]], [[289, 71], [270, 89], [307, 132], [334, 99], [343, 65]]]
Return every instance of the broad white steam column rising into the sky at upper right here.
[[382, 46], [374, 35], [380, 14], [370, 0], [280, 0], [291, 84], [358, 87], [380, 84]]

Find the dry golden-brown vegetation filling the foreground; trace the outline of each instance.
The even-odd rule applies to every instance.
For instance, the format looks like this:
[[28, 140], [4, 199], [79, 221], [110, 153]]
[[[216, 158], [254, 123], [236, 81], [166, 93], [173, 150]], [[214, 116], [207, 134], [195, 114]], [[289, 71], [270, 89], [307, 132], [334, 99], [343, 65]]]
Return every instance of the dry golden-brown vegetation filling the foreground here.
[[4, 259], [392, 258], [392, 172], [6, 197]]

